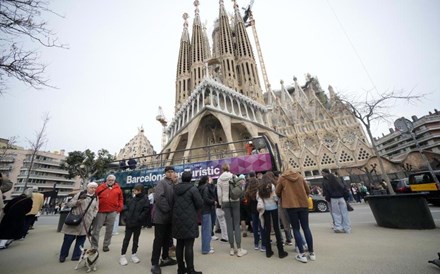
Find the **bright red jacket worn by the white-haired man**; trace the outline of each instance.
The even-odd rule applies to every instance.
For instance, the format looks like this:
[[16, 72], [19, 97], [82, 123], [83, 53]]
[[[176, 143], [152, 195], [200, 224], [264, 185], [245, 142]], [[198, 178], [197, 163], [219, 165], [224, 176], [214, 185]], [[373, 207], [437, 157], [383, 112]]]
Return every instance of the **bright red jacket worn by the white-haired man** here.
[[99, 212], [121, 212], [124, 207], [122, 190], [117, 183], [109, 187], [106, 183], [98, 186], [96, 195], [99, 198]]

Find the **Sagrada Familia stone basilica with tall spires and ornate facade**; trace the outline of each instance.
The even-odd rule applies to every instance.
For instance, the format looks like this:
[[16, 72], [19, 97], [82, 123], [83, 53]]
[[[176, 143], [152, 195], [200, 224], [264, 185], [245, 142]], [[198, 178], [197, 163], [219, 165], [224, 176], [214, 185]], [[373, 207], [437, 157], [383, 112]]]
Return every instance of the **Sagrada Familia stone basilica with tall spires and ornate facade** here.
[[[262, 88], [261, 68], [246, 30], [252, 24], [252, 14], [243, 18], [233, 1], [230, 17], [224, 1], [219, 1], [210, 43], [198, 1], [194, 5], [191, 28], [189, 16], [183, 15], [175, 113], [166, 127], [162, 152], [264, 135], [278, 145], [285, 164], [306, 176], [319, 175], [323, 168], [343, 172], [367, 164], [373, 157], [369, 141], [331, 86], [326, 93], [318, 79], [308, 74], [303, 84], [294, 78], [289, 85], [281, 81], [276, 90], [267, 81]], [[152, 152], [143, 129], [139, 129], [118, 158]]]

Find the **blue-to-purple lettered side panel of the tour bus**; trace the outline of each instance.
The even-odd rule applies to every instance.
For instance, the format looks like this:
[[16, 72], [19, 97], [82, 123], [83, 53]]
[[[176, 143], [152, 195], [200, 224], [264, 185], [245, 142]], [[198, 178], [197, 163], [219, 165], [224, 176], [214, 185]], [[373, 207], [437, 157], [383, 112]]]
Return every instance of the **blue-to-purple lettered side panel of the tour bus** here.
[[[185, 170], [191, 170], [193, 180], [199, 180], [202, 176], [208, 175], [217, 178], [222, 172], [222, 165], [228, 163], [231, 172], [234, 174], [247, 174], [251, 171], [267, 171], [272, 169], [270, 154], [253, 154], [235, 158], [188, 163], [175, 165], [174, 170], [179, 177]], [[143, 184], [145, 187], [154, 187], [165, 177], [164, 167], [153, 169], [130, 170], [114, 173], [116, 182], [121, 187], [133, 187], [136, 184]]]

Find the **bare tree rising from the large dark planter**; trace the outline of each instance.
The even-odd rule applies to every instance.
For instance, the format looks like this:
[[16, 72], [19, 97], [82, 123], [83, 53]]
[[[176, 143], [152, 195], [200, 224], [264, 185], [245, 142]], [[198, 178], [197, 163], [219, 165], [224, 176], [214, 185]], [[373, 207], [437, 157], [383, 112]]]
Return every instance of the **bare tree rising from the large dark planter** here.
[[372, 93], [367, 92], [363, 100], [348, 99], [344, 95], [339, 94], [339, 99], [346, 106], [356, 119], [358, 119], [365, 127], [368, 138], [370, 139], [373, 147], [374, 155], [379, 162], [382, 178], [387, 182], [388, 191], [390, 194], [395, 194], [393, 187], [390, 183], [390, 178], [385, 171], [382, 158], [377, 150], [376, 143], [374, 142], [373, 134], [371, 132], [371, 125], [373, 122], [388, 121], [392, 115], [389, 113], [390, 107], [395, 101], [406, 101], [414, 103], [419, 101], [424, 95], [412, 95], [412, 91], [391, 91], [378, 94], [374, 96]]

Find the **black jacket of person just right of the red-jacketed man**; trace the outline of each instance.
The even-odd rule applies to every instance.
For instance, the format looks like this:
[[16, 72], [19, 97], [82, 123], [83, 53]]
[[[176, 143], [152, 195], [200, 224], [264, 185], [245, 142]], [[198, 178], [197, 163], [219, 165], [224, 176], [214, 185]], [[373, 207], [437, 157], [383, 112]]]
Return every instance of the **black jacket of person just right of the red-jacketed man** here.
[[141, 227], [150, 218], [150, 200], [145, 193], [131, 198], [123, 212], [126, 227]]

